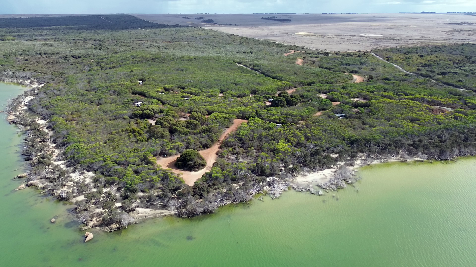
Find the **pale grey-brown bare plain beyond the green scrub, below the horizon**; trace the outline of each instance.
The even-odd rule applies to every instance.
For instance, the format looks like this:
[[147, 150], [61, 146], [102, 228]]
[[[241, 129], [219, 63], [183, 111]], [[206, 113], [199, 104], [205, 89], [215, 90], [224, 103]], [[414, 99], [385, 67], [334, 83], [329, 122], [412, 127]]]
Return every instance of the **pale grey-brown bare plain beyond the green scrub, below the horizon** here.
[[[291, 22], [280, 24], [253, 20], [253, 23], [241, 23], [237, 26], [203, 27], [328, 51], [476, 42], [476, 16], [458, 14], [294, 14], [292, 16], [294, 18], [291, 18]], [[244, 16], [242, 19], [246, 21], [247, 18]], [[469, 24], [461, 24], [462, 22]]]

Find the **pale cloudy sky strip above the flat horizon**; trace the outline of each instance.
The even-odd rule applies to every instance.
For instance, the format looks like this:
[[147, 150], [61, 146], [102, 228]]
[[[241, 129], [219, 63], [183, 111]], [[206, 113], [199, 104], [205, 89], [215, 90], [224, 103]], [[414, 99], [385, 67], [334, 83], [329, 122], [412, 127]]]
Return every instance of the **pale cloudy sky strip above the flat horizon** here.
[[476, 12], [476, 0], [1, 0], [0, 14]]

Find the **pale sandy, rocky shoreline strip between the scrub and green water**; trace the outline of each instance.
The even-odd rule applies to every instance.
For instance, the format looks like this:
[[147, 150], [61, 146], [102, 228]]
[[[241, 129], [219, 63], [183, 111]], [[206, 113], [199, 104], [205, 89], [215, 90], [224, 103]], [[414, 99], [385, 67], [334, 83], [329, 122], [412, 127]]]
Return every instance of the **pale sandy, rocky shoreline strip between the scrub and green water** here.
[[[58, 187], [53, 185], [53, 183], [51, 183], [47, 179], [37, 177], [36, 174], [33, 174], [33, 176], [31, 176], [30, 174], [32, 173], [30, 169], [30, 171], [27, 172], [26, 184], [22, 184], [23, 188], [35, 186], [37, 187], [37, 189], [42, 190], [40, 193], [45, 193], [47, 195], [56, 197], [59, 200], [76, 204], [77, 206], [80, 205], [79, 202], [84, 202], [82, 200], [86, 199], [85, 198], [86, 193], [71, 194], [71, 192], [74, 191], [73, 189], [76, 186], [75, 184], [78, 184], [78, 183], [85, 183], [92, 186], [93, 184], [92, 178], [95, 176], [95, 174], [93, 172], [86, 172], [86, 171], [73, 172], [74, 167], [67, 167], [65, 165], [67, 161], [59, 157], [60, 151], [55, 148], [55, 144], [52, 142], [51, 136], [53, 134], [53, 131], [50, 129], [47, 129], [48, 122], [46, 120], [42, 120], [40, 117], [36, 116], [36, 114], [34, 113], [29, 113], [27, 108], [29, 101], [35, 97], [34, 96], [35, 94], [38, 93], [38, 90], [33, 90], [33, 89], [41, 88], [45, 84], [40, 84], [34, 79], [30, 79], [30, 80], [17, 79], [15, 81], [14, 79], [9, 79], [9, 81], [5, 81], [5, 80], [2, 80], [2, 81], [8, 82], [8, 83], [16, 83], [20, 86], [27, 86], [26, 90], [22, 94], [14, 98], [13, 101], [16, 105], [10, 106], [11, 110], [8, 112], [7, 121], [10, 124], [16, 124], [20, 128], [20, 130], [28, 130], [28, 128], [33, 123], [39, 124], [40, 127], [38, 129], [42, 131], [45, 135], [45, 140], [42, 140], [40, 142], [47, 145], [47, 149], [45, 151], [47, 153], [50, 153], [52, 156], [51, 164], [48, 165], [46, 168], [50, 170], [51, 172], [57, 172], [58, 170], [63, 171], [66, 173], [66, 179], [68, 179], [68, 182], [64, 183], [63, 186]], [[24, 112], [24, 110], [26, 110], [26, 112]], [[34, 115], [36, 117], [31, 118], [31, 116], [29, 117], [28, 115]], [[26, 145], [27, 141], [23, 142], [23, 144]], [[343, 178], [340, 181], [333, 181], [333, 180], [336, 180], [336, 176], [339, 170], [342, 169], [343, 167], [344, 167], [343, 169], [346, 169], [347, 171], [349, 171], [350, 173], [349, 177], [353, 177], [355, 175], [355, 172], [360, 167], [377, 164], [377, 163], [383, 163], [383, 162], [397, 162], [397, 161], [425, 161], [425, 160], [421, 158], [417, 158], [417, 157], [413, 157], [409, 159], [409, 158], [403, 158], [401, 156], [398, 156], [398, 157], [393, 157], [390, 159], [379, 159], [379, 160], [372, 160], [371, 162], [368, 162], [366, 161], [366, 157], [364, 157], [363, 154], [360, 154], [357, 160], [354, 162], [337, 162], [337, 164], [335, 166], [332, 166], [332, 168], [327, 168], [321, 171], [305, 172], [304, 174], [301, 172], [301, 174], [292, 178], [276, 178], [276, 177], [268, 178], [267, 181], [263, 182], [260, 185], [257, 185], [256, 188], [253, 188], [252, 190], [247, 191], [248, 197], [239, 199], [236, 201], [227, 200], [220, 203], [216, 203], [215, 208], [218, 208], [220, 206], [224, 206], [227, 204], [231, 204], [231, 203], [247, 202], [253, 199], [254, 196], [259, 193], [263, 193], [264, 195], [269, 195], [273, 199], [278, 198], [283, 191], [289, 191], [290, 188], [294, 188], [294, 190], [296, 191], [310, 191], [310, 193], [317, 194], [317, 195], [320, 195], [322, 191], [318, 190], [319, 192], [317, 193], [312, 188], [313, 186], [317, 186], [318, 189], [324, 189], [326, 191], [336, 191], [338, 189], [343, 189], [345, 187], [345, 183], [350, 184], [356, 181], [354, 180], [354, 178]], [[352, 166], [348, 166], [349, 163]], [[31, 160], [29, 160], [28, 164], [30, 165], [30, 168], [34, 167], [33, 162], [31, 162]], [[339, 184], [337, 184], [336, 182], [339, 182]], [[328, 186], [332, 185], [332, 183], [334, 183], [334, 185], [336, 186], [334, 187], [331, 186], [331, 188], [329, 189]], [[307, 189], [303, 189], [304, 185], [307, 185]], [[236, 184], [234, 186], [239, 187], [239, 184]], [[327, 189], [325, 188], [326, 186], [327, 186]], [[23, 189], [20, 187], [17, 189], [18, 190]], [[93, 188], [91, 191], [97, 191], [97, 189]], [[118, 197], [117, 202], [115, 202], [116, 207], [120, 207], [122, 205], [121, 204], [122, 200], [119, 198], [120, 192], [118, 191], [117, 186], [104, 189], [104, 191], [105, 192], [110, 191], [112, 194]], [[201, 201], [197, 201], [197, 202], [201, 202]], [[127, 225], [114, 223], [112, 225], [104, 226], [102, 222], [101, 214], [103, 211], [106, 211], [106, 210], [102, 210], [102, 208], [96, 207], [94, 204], [92, 205], [93, 205], [92, 208], [94, 210], [89, 211], [90, 213], [89, 218], [83, 220], [83, 223], [86, 226], [82, 227], [81, 230], [86, 230], [90, 228], [99, 228], [104, 231], [115, 231], [121, 228], [127, 228], [127, 225], [132, 223], [137, 223], [140, 220], [144, 220], [144, 219], [158, 218], [163, 216], [173, 216], [173, 215], [176, 215], [178, 217], [184, 217], [183, 214], [179, 214], [179, 211], [176, 210], [177, 207], [171, 206], [169, 209], [163, 209], [159, 207], [157, 208], [156, 207], [152, 207], [152, 208], [137, 207], [133, 211], [126, 213], [127, 215], [125, 216], [128, 218]], [[211, 212], [213, 212], [213, 210]], [[81, 219], [80, 213], [73, 213], [73, 216], [79, 217], [79, 219]]]

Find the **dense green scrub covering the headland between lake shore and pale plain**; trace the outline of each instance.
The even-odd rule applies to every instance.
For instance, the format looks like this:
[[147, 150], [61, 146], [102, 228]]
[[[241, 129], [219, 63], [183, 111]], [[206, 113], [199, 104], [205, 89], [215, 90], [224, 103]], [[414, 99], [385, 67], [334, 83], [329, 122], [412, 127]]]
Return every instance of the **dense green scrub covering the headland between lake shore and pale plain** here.
[[[56, 159], [95, 173], [90, 184], [72, 180], [79, 190], [53, 192], [87, 195], [81, 211], [117, 201], [124, 205], [117, 214], [153, 207], [194, 216], [362, 156], [439, 160], [476, 152], [472, 91], [406, 75], [366, 52], [329, 54], [192, 27], [10, 28], [0, 36], [11, 37], [0, 41], [3, 80], [47, 82], [28, 109], [47, 120]], [[304, 52], [284, 57], [289, 48]], [[367, 82], [352, 84], [345, 73]], [[294, 86], [290, 95], [280, 92]], [[194, 186], [157, 165], [157, 157], [209, 148], [236, 118], [248, 123], [229, 134]], [[43, 173], [51, 154], [39, 124], [29, 125], [23, 153]], [[63, 186], [62, 175], [50, 177]], [[104, 220], [114, 223], [114, 214]]]

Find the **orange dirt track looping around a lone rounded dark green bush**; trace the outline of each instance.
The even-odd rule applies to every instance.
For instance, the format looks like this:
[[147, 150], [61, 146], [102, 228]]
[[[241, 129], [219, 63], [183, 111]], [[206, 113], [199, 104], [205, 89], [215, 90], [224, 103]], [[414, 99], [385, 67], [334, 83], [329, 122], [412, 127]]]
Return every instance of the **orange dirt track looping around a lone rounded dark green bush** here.
[[173, 155], [171, 157], [166, 157], [166, 158], [161, 157], [157, 160], [157, 164], [162, 166], [162, 168], [164, 169], [169, 168], [169, 169], [172, 169], [172, 172], [181, 174], [181, 177], [183, 178], [186, 184], [193, 185], [193, 183], [197, 181], [198, 179], [200, 179], [205, 172], [208, 172], [211, 170], [213, 162], [217, 160], [217, 152], [221, 142], [223, 142], [223, 140], [227, 138], [229, 133], [231, 133], [232, 131], [236, 131], [236, 129], [238, 129], [238, 126], [244, 122], [247, 122], [247, 120], [241, 120], [241, 119], [233, 120], [233, 124], [227, 130], [225, 130], [223, 134], [220, 135], [220, 138], [218, 138], [217, 143], [215, 143], [208, 149], [199, 151], [199, 153], [205, 158], [205, 161], [207, 162], [207, 165], [205, 166], [203, 170], [196, 171], [196, 172], [179, 170], [177, 167], [175, 167], [175, 162], [177, 161], [177, 158], [180, 156], [179, 154]]

